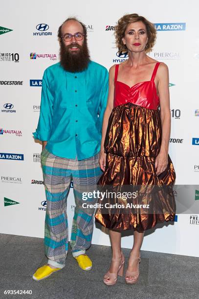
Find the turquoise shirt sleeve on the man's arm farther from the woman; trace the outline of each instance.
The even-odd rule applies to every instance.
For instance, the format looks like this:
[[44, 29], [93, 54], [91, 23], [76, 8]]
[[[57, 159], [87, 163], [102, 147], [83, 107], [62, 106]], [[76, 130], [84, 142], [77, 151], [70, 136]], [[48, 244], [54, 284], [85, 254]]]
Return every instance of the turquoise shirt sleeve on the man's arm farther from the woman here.
[[33, 133], [35, 139], [48, 141], [51, 135], [53, 117], [53, 95], [49, 88], [47, 70], [44, 71], [42, 81], [42, 97], [40, 107], [40, 117], [36, 132]]

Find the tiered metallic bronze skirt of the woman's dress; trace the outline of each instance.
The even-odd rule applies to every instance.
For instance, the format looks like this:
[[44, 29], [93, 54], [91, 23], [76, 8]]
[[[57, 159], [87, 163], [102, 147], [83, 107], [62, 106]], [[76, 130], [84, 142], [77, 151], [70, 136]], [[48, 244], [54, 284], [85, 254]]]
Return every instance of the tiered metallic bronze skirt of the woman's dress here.
[[132, 103], [113, 108], [104, 144], [106, 168], [98, 188], [100, 192], [134, 191], [136, 197], [100, 198], [97, 222], [115, 231], [145, 231], [157, 223], [174, 221], [176, 174], [168, 156], [166, 170], [156, 175], [155, 158], [160, 146], [159, 110]]

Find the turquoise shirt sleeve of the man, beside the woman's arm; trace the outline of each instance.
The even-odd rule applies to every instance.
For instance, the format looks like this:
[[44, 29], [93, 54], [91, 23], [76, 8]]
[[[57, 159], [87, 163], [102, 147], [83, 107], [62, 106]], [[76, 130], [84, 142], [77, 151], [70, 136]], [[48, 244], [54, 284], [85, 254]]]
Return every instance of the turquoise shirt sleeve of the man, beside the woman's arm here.
[[102, 122], [104, 118], [104, 112], [107, 107], [107, 100], [108, 100], [108, 93], [109, 93], [109, 73], [108, 70], [104, 70], [104, 74], [102, 76], [102, 88], [101, 88], [101, 95], [100, 95], [100, 106], [98, 111], [98, 126], [100, 129], [100, 132], [102, 132]]

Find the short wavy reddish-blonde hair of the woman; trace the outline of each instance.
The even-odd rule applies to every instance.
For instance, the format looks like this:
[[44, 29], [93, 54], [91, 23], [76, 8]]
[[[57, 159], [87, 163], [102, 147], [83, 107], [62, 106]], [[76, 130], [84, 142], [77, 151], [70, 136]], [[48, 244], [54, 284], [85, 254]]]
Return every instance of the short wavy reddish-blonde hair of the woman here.
[[124, 38], [127, 26], [138, 21], [143, 22], [147, 29], [148, 42], [146, 44], [145, 52], [147, 53], [152, 50], [156, 40], [156, 29], [154, 24], [138, 14], [127, 14], [119, 19], [115, 28], [116, 45], [119, 51], [124, 52], [128, 50], [126, 44], [122, 42], [122, 38]]

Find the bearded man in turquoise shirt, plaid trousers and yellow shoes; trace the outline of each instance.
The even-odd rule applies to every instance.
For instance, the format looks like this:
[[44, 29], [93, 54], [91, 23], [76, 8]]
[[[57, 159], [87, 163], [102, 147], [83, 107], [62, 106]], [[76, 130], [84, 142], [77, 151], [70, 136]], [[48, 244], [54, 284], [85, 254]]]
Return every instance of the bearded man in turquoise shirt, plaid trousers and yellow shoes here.
[[[83, 270], [92, 262], [85, 254], [93, 232], [97, 198], [93, 192], [101, 175], [98, 164], [103, 115], [108, 98], [108, 71], [89, 59], [86, 26], [67, 19], [58, 31], [60, 62], [44, 71], [41, 111], [33, 133], [43, 143], [41, 163], [46, 193], [44, 248], [46, 265], [33, 279], [41, 280], [65, 266], [68, 251], [66, 198], [73, 180], [75, 212], [70, 246]], [[84, 193], [85, 195], [86, 193]], [[82, 204], [87, 207], [83, 208]]]

